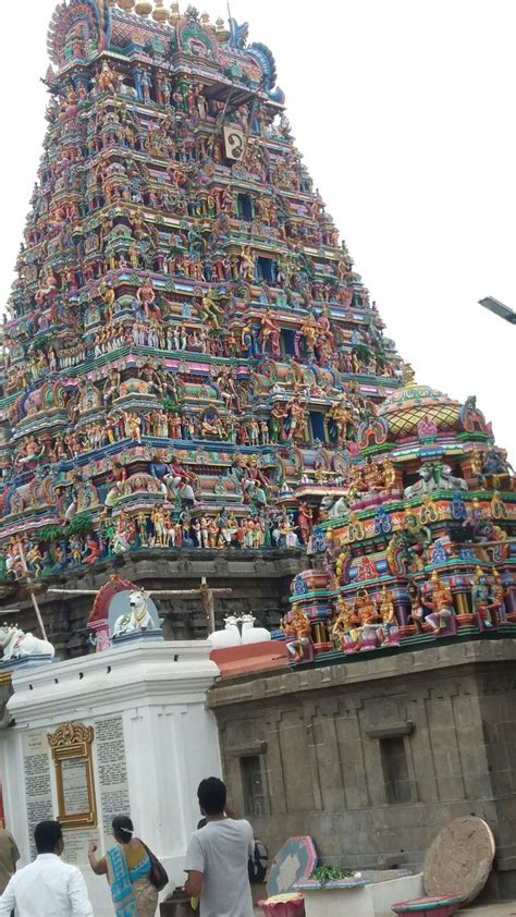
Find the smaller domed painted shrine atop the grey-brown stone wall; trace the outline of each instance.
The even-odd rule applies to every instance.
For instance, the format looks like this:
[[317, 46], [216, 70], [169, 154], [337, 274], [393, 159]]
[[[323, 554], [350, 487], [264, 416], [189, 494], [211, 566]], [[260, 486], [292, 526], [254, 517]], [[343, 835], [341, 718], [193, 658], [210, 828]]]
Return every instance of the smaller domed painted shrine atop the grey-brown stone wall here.
[[295, 663], [516, 636], [516, 489], [475, 398], [405, 384], [360, 425], [346, 494], [282, 622]]

